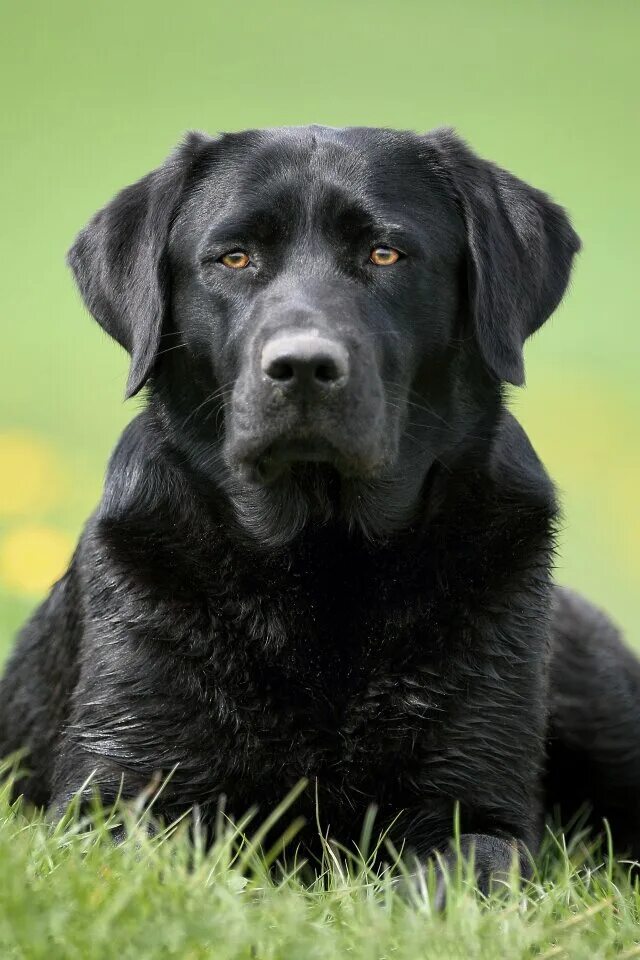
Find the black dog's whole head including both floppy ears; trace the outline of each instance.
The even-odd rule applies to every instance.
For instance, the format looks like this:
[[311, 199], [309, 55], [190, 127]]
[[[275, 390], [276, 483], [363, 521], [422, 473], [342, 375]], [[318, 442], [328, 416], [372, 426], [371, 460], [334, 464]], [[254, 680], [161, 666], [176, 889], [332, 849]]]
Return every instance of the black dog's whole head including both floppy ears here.
[[410, 522], [425, 478], [523, 381], [578, 240], [448, 131], [192, 135], [70, 263], [169, 442], [260, 542]]

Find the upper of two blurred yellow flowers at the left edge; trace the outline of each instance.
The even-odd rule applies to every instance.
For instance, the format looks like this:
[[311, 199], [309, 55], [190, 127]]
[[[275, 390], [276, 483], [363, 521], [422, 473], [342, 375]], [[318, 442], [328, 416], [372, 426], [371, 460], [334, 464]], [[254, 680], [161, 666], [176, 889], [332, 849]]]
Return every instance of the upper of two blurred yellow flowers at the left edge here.
[[65, 494], [65, 477], [55, 453], [26, 434], [0, 434], [0, 517], [42, 513]]

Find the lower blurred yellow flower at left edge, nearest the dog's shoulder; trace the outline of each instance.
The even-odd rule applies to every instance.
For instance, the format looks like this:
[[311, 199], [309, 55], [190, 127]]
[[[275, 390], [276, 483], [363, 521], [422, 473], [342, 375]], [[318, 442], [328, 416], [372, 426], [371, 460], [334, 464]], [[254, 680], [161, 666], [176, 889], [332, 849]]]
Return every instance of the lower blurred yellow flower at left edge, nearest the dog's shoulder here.
[[0, 580], [7, 590], [44, 593], [64, 573], [73, 540], [61, 530], [36, 524], [16, 527], [0, 542]]

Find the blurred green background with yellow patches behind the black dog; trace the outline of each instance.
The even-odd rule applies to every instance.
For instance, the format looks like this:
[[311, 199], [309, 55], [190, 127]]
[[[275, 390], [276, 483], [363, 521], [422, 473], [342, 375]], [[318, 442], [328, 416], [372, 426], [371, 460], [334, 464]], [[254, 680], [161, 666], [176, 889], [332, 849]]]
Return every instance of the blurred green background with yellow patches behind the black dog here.
[[512, 403], [562, 492], [558, 578], [640, 641], [639, 36], [637, 0], [6, 5], [0, 653], [136, 410], [65, 268], [74, 233], [187, 129], [309, 122], [454, 125], [571, 212], [584, 252]]

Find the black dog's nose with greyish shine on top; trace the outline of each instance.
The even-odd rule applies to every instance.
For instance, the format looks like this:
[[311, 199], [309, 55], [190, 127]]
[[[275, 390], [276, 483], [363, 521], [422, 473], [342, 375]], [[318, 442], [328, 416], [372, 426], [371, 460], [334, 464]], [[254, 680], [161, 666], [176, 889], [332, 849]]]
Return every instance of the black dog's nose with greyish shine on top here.
[[335, 389], [349, 377], [346, 347], [312, 330], [276, 334], [265, 343], [260, 365], [270, 380], [287, 388]]

